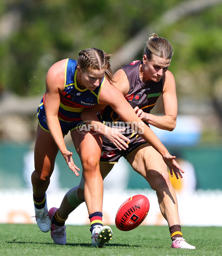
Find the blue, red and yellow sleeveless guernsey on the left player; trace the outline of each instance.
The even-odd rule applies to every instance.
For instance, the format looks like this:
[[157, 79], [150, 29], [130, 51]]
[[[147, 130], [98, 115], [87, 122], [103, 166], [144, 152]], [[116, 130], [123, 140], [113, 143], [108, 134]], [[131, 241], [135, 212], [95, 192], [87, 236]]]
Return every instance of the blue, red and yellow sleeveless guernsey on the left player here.
[[[95, 90], [90, 91], [87, 88], [81, 90], [78, 88], [76, 82], [77, 72], [77, 61], [74, 59], [67, 59], [65, 65], [64, 90], [62, 93], [60, 93], [60, 107], [58, 110], [58, 119], [60, 121], [63, 134], [67, 134], [68, 130], [73, 130], [78, 127], [78, 125], [82, 122], [81, 112], [84, 108], [94, 106], [95, 104], [100, 104], [99, 95], [105, 81], [105, 76]], [[38, 107], [37, 117], [40, 126], [44, 130], [48, 130], [44, 101], [45, 97], [42, 98]]]

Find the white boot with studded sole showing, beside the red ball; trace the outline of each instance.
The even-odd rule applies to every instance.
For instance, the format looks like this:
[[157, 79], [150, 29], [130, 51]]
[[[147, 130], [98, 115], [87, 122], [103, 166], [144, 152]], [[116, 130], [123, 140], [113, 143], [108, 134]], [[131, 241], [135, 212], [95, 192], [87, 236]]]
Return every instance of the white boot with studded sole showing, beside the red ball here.
[[104, 247], [105, 243], [112, 240], [112, 230], [109, 226], [94, 226], [92, 230], [92, 247]]

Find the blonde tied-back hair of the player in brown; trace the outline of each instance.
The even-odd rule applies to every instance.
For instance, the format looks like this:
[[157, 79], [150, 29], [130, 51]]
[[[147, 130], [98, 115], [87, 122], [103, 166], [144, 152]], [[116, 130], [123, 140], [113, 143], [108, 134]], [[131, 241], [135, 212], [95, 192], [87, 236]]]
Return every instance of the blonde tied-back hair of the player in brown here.
[[152, 60], [153, 55], [157, 55], [165, 59], [171, 59], [173, 56], [173, 48], [168, 40], [158, 37], [157, 34], [152, 33], [146, 42], [144, 54], [147, 55], [148, 61]]

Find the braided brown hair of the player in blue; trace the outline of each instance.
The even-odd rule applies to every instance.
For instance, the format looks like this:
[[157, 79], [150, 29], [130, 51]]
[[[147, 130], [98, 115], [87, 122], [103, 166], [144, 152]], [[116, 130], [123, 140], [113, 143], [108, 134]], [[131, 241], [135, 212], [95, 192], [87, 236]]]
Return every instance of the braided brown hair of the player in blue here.
[[105, 69], [105, 76], [110, 82], [113, 80], [113, 72], [110, 67], [110, 55], [97, 48], [88, 48], [79, 52], [77, 65], [82, 71], [89, 69]]

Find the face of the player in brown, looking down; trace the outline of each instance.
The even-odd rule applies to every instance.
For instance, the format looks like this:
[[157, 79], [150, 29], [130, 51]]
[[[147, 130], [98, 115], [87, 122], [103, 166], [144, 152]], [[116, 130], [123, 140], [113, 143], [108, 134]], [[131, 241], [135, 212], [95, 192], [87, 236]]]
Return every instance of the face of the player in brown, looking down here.
[[148, 78], [148, 80], [152, 80], [154, 82], [159, 82], [165, 72], [168, 70], [171, 59], [165, 59], [158, 57], [157, 55], [153, 56], [151, 61], [147, 60], [147, 56], [143, 56], [143, 63], [145, 64], [144, 68], [144, 76]]

